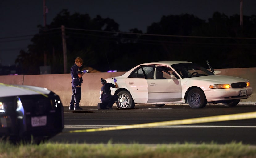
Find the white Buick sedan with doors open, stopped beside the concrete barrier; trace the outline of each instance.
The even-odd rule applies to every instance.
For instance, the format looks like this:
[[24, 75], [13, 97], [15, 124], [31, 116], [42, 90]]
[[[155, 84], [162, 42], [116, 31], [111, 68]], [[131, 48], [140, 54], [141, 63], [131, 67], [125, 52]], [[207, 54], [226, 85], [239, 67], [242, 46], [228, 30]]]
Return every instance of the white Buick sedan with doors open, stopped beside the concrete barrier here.
[[[207, 62], [208, 63], [208, 62]], [[208, 63], [209, 65], [209, 63]], [[196, 63], [162, 61], [137, 65], [115, 77], [118, 88], [118, 108], [134, 108], [135, 104], [163, 106], [167, 103], [187, 103], [192, 108], [203, 108], [207, 103], [222, 103], [234, 107], [240, 99], [247, 99], [253, 90], [247, 79], [217, 75]], [[113, 79], [106, 79], [114, 83]]]

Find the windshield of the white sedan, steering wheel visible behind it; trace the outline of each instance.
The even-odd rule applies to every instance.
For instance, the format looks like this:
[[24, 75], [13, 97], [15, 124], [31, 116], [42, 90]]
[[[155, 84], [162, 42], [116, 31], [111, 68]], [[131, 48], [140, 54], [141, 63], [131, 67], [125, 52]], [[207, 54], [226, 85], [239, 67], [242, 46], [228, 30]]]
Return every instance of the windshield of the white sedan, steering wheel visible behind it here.
[[181, 78], [214, 75], [206, 68], [201, 67], [200, 65], [197, 65], [195, 63], [174, 64], [171, 65], [171, 67], [175, 69], [175, 71], [181, 76]]

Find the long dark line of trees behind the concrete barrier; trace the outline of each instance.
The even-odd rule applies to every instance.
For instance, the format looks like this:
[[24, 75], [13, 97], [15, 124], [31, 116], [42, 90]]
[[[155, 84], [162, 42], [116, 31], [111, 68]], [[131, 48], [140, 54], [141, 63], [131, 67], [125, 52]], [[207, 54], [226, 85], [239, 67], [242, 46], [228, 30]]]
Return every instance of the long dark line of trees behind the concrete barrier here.
[[164, 15], [143, 33], [137, 28], [120, 32], [111, 18], [62, 10], [53, 21], [31, 39], [27, 51], [15, 60], [19, 74], [40, 74], [39, 67], [51, 66], [52, 74], [64, 73], [61, 26], [65, 26], [67, 67], [76, 57], [83, 67], [106, 72], [127, 71], [146, 62], [191, 61], [213, 68], [255, 67], [256, 16], [226, 16], [213, 13], [207, 21], [191, 14]]

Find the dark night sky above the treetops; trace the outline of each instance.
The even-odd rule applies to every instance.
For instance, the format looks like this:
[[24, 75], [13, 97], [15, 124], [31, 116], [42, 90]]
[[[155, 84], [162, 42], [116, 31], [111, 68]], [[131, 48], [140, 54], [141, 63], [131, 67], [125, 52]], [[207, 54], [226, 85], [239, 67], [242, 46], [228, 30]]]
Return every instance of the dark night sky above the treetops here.
[[[240, 14], [240, 0], [45, 0], [49, 12], [47, 24], [62, 9], [73, 14], [100, 15], [119, 24], [119, 30], [128, 32], [138, 28], [143, 33], [147, 26], [159, 22], [163, 15], [193, 14], [207, 20], [218, 11], [227, 16]], [[19, 51], [30, 44], [38, 33], [37, 25], [44, 24], [43, 0], [0, 1], [0, 64], [13, 65]], [[243, 15], [256, 15], [256, 0], [243, 0]], [[19, 36], [24, 36], [16, 38]]]

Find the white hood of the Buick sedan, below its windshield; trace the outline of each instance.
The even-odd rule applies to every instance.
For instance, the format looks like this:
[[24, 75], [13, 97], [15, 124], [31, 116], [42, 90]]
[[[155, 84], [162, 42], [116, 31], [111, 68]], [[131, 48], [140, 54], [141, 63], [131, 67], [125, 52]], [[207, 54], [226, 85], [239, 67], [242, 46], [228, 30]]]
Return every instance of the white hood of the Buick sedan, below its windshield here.
[[200, 80], [206, 80], [206, 81], [220, 82], [220, 83], [224, 83], [224, 84], [249, 81], [247, 79], [233, 77], [233, 76], [225, 76], [225, 75], [209, 75], [209, 76], [191, 77], [188, 79], [195, 79], [195, 80], [200, 79]]

